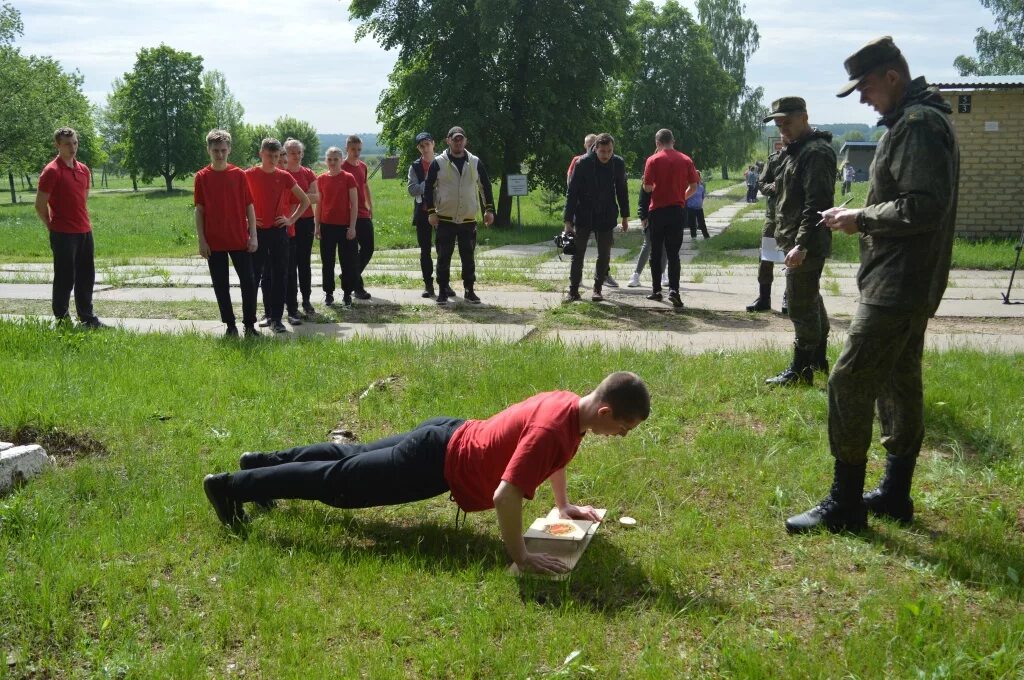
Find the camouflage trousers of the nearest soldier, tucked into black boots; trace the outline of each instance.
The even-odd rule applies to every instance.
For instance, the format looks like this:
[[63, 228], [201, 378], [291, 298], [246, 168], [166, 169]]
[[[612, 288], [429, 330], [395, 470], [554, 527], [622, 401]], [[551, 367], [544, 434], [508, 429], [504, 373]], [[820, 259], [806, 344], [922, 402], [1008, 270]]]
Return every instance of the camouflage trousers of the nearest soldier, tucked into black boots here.
[[878, 407], [882, 445], [916, 457], [925, 436], [921, 354], [928, 314], [860, 304], [828, 377], [828, 445], [844, 463], [867, 460]]

